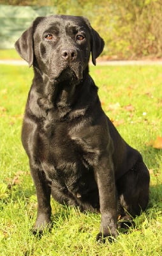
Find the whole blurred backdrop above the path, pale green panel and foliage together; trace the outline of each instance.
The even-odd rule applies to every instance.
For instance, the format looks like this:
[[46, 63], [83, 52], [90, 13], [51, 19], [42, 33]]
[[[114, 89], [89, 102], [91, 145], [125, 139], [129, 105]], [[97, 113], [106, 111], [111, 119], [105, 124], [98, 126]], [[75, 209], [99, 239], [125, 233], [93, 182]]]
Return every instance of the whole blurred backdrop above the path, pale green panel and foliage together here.
[[0, 0], [0, 49], [13, 49], [36, 17], [51, 14], [87, 17], [105, 40], [105, 60], [162, 57], [161, 0]]

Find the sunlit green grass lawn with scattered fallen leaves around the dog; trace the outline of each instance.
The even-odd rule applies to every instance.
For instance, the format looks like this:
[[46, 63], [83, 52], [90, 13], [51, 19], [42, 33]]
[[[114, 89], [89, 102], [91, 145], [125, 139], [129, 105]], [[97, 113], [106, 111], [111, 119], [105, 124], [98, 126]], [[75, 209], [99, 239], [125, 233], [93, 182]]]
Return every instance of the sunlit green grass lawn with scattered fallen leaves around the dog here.
[[158, 66], [91, 67], [107, 115], [151, 173], [147, 210], [116, 243], [98, 245], [99, 214], [81, 214], [52, 200], [54, 227], [37, 239], [36, 196], [20, 141], [22, 116], [33, 77], [27, 67], [0, 66], [0, 255], [144, 256], [162, 255], [162, 150], [149, 143], [162, 137], [162, 71]]

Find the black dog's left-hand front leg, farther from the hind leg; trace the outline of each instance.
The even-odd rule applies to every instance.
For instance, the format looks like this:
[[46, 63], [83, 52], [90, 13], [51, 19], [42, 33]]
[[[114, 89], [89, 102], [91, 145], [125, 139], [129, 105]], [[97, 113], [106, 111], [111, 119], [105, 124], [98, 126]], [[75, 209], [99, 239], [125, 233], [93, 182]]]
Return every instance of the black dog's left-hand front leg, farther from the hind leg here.
[[31, 175], [36, 187], [38, 201], [37, 218], [33, 228], [33, 234], [42, 234], [45, 228], [50, 228], [50, 182], [45, 177], [45, 173], [31, 167]]

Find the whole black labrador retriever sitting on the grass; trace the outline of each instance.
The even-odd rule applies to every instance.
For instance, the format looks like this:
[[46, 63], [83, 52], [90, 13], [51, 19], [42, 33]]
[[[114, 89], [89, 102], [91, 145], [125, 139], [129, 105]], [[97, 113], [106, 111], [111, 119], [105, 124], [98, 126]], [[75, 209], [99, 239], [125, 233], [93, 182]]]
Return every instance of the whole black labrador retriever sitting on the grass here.
[[15, 47], [34, 68], [22, 127], [38, 199], [33, 232], [50, 228], [52, 194], [101, 212], [97, 240], [117, 237], [118, 216], [129, 221], [147, 206], [149, 172], [103, 112], [89, 76], [103, 39], [84, 17], [51, 15], [36, 18]]

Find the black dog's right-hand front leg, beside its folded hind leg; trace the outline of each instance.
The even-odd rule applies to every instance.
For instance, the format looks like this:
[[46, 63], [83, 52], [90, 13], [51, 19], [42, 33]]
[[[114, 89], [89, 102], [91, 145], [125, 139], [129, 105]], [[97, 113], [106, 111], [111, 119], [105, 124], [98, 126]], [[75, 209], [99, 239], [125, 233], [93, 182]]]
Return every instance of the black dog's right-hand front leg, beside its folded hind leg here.
[[98, 166], [95, 168], [95, 177], [98, 184], [101, 212], [101, 226], [96, 239], [104, 243], [105, 237], [112, 241], [112, 237], [117, 236], [117, 199], [111, 156], [101, 156]]

